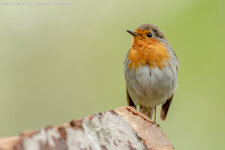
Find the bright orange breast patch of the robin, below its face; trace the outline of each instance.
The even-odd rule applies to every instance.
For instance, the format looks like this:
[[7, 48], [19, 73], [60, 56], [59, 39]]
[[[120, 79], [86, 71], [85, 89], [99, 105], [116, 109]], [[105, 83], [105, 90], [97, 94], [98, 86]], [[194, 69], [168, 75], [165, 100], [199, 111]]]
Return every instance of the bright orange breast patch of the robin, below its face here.
[[150, 69], [155, 67], [162, 69], [170, 58], [165, 46], [157, 39], [134, 41], [128, 54], [128, 59], [131, 61], [129, 68], [138, 68], [147, 64]]

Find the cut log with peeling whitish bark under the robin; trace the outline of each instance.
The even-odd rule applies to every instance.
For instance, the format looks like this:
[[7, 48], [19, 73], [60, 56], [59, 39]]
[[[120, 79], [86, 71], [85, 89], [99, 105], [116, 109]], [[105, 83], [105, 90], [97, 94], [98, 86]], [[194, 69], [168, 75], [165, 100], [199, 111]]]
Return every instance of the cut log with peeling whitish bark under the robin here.
[[132, 107], [0, 139], [0, 150], [173, 150], [160, 127]]

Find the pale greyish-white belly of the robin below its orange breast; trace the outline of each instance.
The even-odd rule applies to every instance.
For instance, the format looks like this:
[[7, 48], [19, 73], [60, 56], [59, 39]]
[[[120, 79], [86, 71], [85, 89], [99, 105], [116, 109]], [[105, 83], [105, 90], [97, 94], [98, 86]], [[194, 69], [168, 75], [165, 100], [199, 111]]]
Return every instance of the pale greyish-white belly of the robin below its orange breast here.
[[128, 69], [128, 62], [124, 64], [125, 80], [128, 93], [135, 105], [153, 108], [164, 104], [176, 89], [176, 66], [168, 64], [160, 70], [142, 66], [138, 69]]

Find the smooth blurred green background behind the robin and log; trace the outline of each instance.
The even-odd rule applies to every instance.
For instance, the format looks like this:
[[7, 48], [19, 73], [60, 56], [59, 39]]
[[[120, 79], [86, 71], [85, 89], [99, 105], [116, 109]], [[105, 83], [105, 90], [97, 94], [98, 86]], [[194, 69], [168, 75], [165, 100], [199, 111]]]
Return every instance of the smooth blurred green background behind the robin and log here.
[[32, 2], [0, 5], [0, 137], [126, 105], [125, 30], [153, 23], [180, 63], [162, 130], [176, 149], [225, 148], [224, 0]]

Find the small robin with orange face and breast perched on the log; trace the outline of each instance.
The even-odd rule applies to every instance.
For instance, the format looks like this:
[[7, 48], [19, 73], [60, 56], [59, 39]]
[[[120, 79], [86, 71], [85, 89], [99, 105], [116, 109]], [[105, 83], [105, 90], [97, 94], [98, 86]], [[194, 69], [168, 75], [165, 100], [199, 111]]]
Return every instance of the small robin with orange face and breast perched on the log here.
[[143, 24], [135, 31], [131, 49], [124, 61], [128, 105], [156, 122], [156, 106], [162, 104], [160, 117], [166, 119], [177, 85], [178, 60], [159, 28]]

